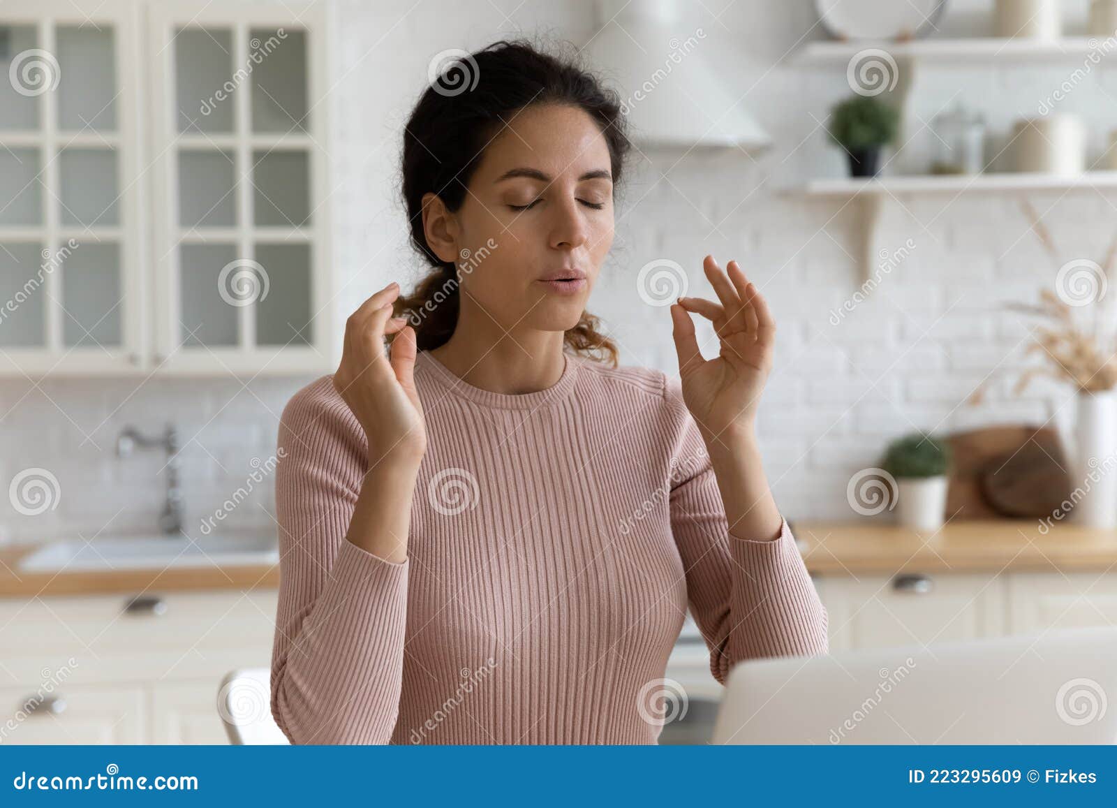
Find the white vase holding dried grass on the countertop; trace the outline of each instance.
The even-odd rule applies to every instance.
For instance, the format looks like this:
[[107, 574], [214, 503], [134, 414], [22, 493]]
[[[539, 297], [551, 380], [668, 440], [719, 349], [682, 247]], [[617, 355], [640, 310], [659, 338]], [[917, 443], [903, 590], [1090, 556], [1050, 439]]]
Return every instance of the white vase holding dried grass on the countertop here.
[[1117, 527], [1117, 392], [1078, 393], [1075, 445], [1071, 521]]

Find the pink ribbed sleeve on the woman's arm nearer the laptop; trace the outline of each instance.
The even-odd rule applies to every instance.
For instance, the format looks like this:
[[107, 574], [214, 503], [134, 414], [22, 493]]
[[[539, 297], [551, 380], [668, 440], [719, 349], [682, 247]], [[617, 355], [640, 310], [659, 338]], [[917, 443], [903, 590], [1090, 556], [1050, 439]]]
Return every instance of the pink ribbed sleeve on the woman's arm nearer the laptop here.
[[677, 379], [666, 382], [665, 396], [680, 425], [671, 458], [671, 533], [714, 678], [725, 684], [744, 659], [825, 654], [827, 610], [787, 520], [774, 540], [729, 533], [709, 454]]

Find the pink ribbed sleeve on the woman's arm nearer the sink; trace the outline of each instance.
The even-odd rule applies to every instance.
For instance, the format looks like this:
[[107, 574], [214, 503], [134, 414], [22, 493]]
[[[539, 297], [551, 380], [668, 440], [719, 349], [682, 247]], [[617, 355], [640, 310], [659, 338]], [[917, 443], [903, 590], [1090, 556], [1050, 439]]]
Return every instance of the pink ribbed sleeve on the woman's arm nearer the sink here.
[[325, 377], [279, 419], [279, 602], [271, 715], [292, 743], [388, 743], [399, 713], [409, 561], [345, 534], [364, 431]]

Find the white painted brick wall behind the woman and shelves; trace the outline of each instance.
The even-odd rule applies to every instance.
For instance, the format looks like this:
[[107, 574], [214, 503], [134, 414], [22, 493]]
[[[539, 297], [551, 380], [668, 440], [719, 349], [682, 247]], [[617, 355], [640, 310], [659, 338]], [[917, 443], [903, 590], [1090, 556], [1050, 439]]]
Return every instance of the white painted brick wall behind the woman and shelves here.
[[[646, 306], [636, 295], [636, 276], [646, 262], [679, 262], [689, 273], [690, 293], [703, 294], [701, 257], [736, 257], [768, 297], [779, 324], [776, 367], [760, 429], [768, 479], [792, 519], [853, 517], [846, 503], [850, 475], [875, 464], [888, 439], [913, 428], [1042, 422], [1052, 416], [1051, 424], [1065, 428], [1069, 408], [1059, 407], [1066, 391], [1050, 384], [1037, 384], [1016, 398], [1009, 377], [994, 381], [986, 405], [962, 403], [993, 368], [1021, 367], [1021, 341], [1029, 330], [999, 306], [1034, 301], [1057, 268], [1028, 234], [1018, 200], [944, 194], [886, 203], [880, 245], [895, 249], [910, 238], [916, 247], [868, 300], [832, 325], [830, 312], [861, 283], [853, 258], [856, 211], [841, 201], [780, 190], [846, 170], [843, 155], [827, 144], [818, 123], [833, 102], [848, 95], [843, 72], [804, 70], [785, 58], [812, 26], [813, 3], [688, 6], [688, 30], [700, 25], [708, 35], [703, 57], [722, 66], [732, 92], [743, 96], [776, 145], [756, 164], [738, 153], [636, 155], [614, 253], [591, 308], [608, 321], [624, 363], [674, 370], [667, 310]], [[981, 32], [990, 7], [957, 0], [944, 29]], [[1080, 30], [1086, 3], [1066, 7], [1068, 29]], [[476, 48], [535, 31], [584, 41], [592, 16], [588, 2], [553, 0], [414, 6], [346, 0], [336, 6], [334, 26], [335, 126], [328, 149], [340, 277], [336, 313], [344, 322], [375, 288], [393, 278], [407, 284], [421, 272], [407, 246], [394, 183], [400, 123], [422, 88], [430, 57], [446, 48]], [[821, 35], [814, 30], [806, 36]], [[909, 152], [889, 170], [926, 164], [935, 139], [920, 127], [955, 97], [983, 111], [999, 149], [1012, 121], [1034, 114], [1039, 92], [1057, 86], [1066, 69], [928, 67], [917, 78], [905, 121]], [[1117, 126], [1115, 82], [1096, 70], [1061, 105], [1090, 122], [1091, 159], [1100, 154], [1108, 130]], [[1042, 193], [1032, 201], [1044, 212], [1065, 260], [1100, 257], [1117, 221], [1117, 194]], [[38, 389], [4, 381], [2, 478], [44, 466], [58, 476], [63, 497], [57, 511], [34, 521], [17, 519], [0, 501], [6, 508], [0, 522], [36, 535], [153, 529], [164, 486], [156, 474], [162, 460], [121, 460], [113, 454], [114, 441], [126, 424], [154, 430], [173, 420], [184, 443], [188, 515], [197, 524], [244, 484], [251, 458], [264, 460], [274, 453], [278, 413], [308, 380], [256, 380], [244, 389], [232, 381], [149, 381], [139, 389], [124, 381], [48, 380]], [[233, 513], [231, 523], [271, 524], [271, 492], [265, 487], [258, 502]]]

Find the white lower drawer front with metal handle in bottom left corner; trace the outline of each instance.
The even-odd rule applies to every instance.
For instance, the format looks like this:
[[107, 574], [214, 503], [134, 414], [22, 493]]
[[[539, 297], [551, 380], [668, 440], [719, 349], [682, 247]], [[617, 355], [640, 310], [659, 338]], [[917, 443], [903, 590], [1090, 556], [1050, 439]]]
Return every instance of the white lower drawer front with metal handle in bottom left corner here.
[[3, 743], [144, 743], [144, 692], [133, 686], [0, 688]]

